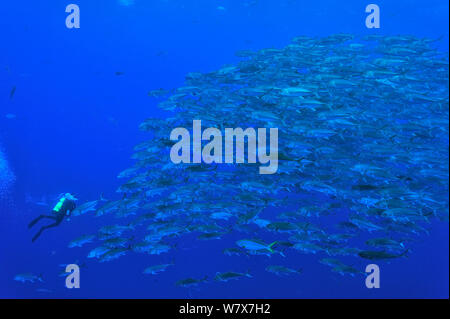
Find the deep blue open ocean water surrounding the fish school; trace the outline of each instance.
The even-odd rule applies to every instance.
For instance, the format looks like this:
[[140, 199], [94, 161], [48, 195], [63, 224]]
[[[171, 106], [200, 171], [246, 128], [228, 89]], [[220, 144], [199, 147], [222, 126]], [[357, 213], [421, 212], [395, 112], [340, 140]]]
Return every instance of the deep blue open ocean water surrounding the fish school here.
[[[28, 2], [0, 6], [0, 297], [449, 297], [447, 222], [427, 225], [429, 235], [412, 244], [408, 258], [383, 262], [380, 289], [367, 289], [362, 277], [332, 273], [310, 255], [289, 259], [304, 269], [301, 276], [268, 274], [261, 265], [282, 263], [283, 257], [224, 256], [221, 251], [240, 239], [234, 235], [202, 242], [188, 235], [182, 248], [168, 254], [88, 261], [81, 288], [67, 289], [59, 265], [76, 263], [89, 252], [69, 249], [68, 242], [97, 231], [105, 219], [74, 217], [35, 243], [36, 230], [27, 229], [31, 219], [50, 209], [36, 202], [52, 206], [60, 193], [72, 192], [83, 202], [102, 193], [120, 199], [116, 176], [132, 165], [133, 147], [148, 138], [139, 124], [164, 115], [149, 90], [177, 88], [189, 72], [238, 62], [237, 50], [280, 48], [299, 35], [412, 34], [440, 38], [436, 46], [448, 52], [447, 1], [377, 1], [379, 30], [366, 28], [369, 2], [361, 0], [77, 0], [81, 28], [76, 30], [65, 26], [70, 2]], [[11, 174], [15, 182], [2, 190]], [[172, 260], [170, 271], [142, 275], [144, 268]], [[250, 270], [254, 278], [193, 289], [174, 284], [230, 270]], [[42, 274], [44, 282], [13, 280], [26, 272]]]

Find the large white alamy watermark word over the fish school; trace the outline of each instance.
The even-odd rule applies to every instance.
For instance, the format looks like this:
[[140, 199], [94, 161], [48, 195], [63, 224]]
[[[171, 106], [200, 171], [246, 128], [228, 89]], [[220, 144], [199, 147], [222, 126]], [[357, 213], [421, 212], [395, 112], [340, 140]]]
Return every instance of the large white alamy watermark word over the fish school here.
[[[170, 140], [178, 141], [170, 150], [170, 159], [173, 163], [202, 163], [202, 160], [206, 164], [245, 163], [245, 139], [247, 139], [247, 162], [256, 163], [258, 160], [260, 164], [268, 164], [259, 167], [260, 174], [274, 174], [278, 170], [278, 128], [269, 129], [269, 145], [267, 145], [266, 128], [257, 130], [254, 128], [243, 130], [240, 127], [225, 128], [225, 141], [223, 141], [222, 132], [219, 129], [209, 127], [202, 133], [201, 120], [194, 120], [192, 133], [192, 156], [189, 131], [184, 127], [177, 127], [170, 133]], [[202, 141], [208, 141], [203, 148]], [[223, 156], [223, 144], [225, 144], [225, 156]]]

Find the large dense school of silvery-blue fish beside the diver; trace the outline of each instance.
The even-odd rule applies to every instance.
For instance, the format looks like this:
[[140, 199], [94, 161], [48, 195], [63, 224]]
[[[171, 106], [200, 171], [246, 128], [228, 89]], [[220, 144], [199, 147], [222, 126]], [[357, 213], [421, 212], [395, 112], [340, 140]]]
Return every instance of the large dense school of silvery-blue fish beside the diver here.
[[[281, 49], [239, 51], [237, 64], [189, 73], [174, 90], [151, 91], [167, 117], [140, 125], [149, 138], [135, 147], [134, 166], [118, 176], [125, 180], [121, 199], [101, 198], [74, 212], [115, 215], [117, 223], [69, 247], [91, 245], [87, 257], [108, 262], [133, 253], [176, 254], [186, 234], [198, 240], [233, 234], [240, 239], [225, 255], [284, 256], [284, 264], [265, 268], [279, 276], [306, 272], [290, 263], [294, 254], [315, 254], [318, 265], [351, 276], [362, 271], [344, 256], [407, 256], [432, 220], [448, 222], [449, 64], [434, 41], [301, 36]], [[278, 171], [172, 163], [170, 132], [193, 120], [221, 131], [278, 128]], [[173, 265], [149, 265], [142, 273]], [[254, 277], [241, 271], [209, 275]], [[176, 284], [207, 282], [189, 275]]]

